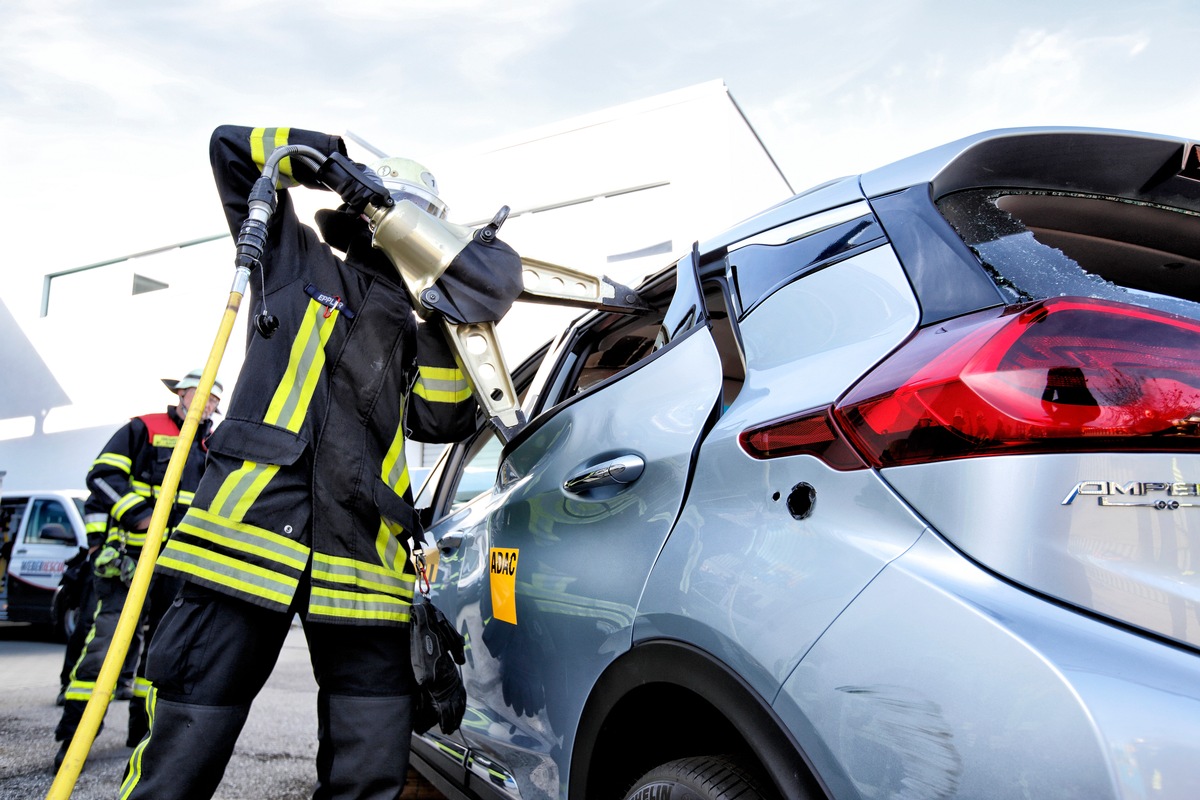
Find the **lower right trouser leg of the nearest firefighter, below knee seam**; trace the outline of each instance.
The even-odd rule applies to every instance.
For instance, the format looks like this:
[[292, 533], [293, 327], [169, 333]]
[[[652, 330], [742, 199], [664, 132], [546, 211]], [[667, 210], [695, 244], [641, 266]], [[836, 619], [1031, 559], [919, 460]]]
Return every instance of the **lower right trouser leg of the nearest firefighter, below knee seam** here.
[[413, 698], [318, 693], [313, 800], [394, 800], [404, 788]]

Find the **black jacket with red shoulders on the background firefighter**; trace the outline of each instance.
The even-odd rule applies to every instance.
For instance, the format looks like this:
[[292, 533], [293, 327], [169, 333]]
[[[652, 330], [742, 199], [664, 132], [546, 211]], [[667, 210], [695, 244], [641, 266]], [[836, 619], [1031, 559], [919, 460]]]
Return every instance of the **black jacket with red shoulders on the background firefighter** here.
[[[175, 410], [136, 416], [113, 434], [88, 473], [90, 494], [84, 503], [88, 546], [110, 545], [137, 558], [146, 531], [137, 530], [150, 519], [162, 492], [167, 465], [179, 439], [180, 420]], [[204, 421], [192, 439], [179, 489], [163, 539], [184, 517], [204, 473], [204, 440], [212, 423]]]

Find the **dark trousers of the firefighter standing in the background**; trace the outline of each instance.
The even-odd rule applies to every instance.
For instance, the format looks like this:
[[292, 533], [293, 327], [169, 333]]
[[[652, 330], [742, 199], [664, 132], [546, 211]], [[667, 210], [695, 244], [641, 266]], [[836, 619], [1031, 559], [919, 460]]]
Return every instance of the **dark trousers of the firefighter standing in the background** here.
[[[149, 642], [154, 638], [158, 622], [178, 594], [181, 583], [178, 578], [161, 575], [155, 575], [150, 579], [150, 588], [142, 607], [142, 619], [133, 632], [133, 639], [130, 642], [130, 652], [126, 656], [121, 676], [127, 675], [128, 667], [136, 660], [138, 666], [133, 676], [130, 730], [126, 738], [126, 744], [131, 746], [140, 741], [149, 728], [146, 694], [150, 690], [150, 682], [145, 679], [146, 656], [143, 640]], [[62, 717], [54, 729], [56, 741], [71, 739], [74, 736], [76, 728], [79, 727], [84, 709], [88, 708], [88, 700], [96, 686], [96, 679], [100, 678], [100, 668], [104, 664], [108, 648], [116, 633], [116, 622], [121, 618], [125, 599], [130, 593], [128, 587], [118, 577], [92, 576], [91, 584], [96, 594], [96, 614], [92, 618], [91, 630], [84, 639], [79, 661], [71, 670], [71, 682], [67, 684], [66, 702], [62, 704]]]

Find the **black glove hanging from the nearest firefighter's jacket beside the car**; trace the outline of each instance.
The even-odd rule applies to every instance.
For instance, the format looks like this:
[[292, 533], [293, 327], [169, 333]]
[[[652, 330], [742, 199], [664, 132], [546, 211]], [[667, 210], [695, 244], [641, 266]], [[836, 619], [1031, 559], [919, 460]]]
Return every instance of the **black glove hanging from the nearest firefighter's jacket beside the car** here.
[[413, 675], [420, 687], [414, 729], [422, 723], [428, 729], [436, 715], [442, 733], [451, 734], [467, 710], [467, 690], [458, 672], [458, 664], [467, 660], [463, 638], [428, 599], [413, 606], [412, 619]]

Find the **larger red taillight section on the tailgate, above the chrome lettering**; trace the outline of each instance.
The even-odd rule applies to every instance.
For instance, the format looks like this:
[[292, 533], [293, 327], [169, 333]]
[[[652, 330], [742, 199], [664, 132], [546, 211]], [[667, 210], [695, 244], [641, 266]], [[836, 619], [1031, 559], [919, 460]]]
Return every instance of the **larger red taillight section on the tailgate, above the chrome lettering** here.
[[925, 329], [834, 409], [875, 467], [1195, 449], [1198, 415], [1200, 325], [1086, 297]]

